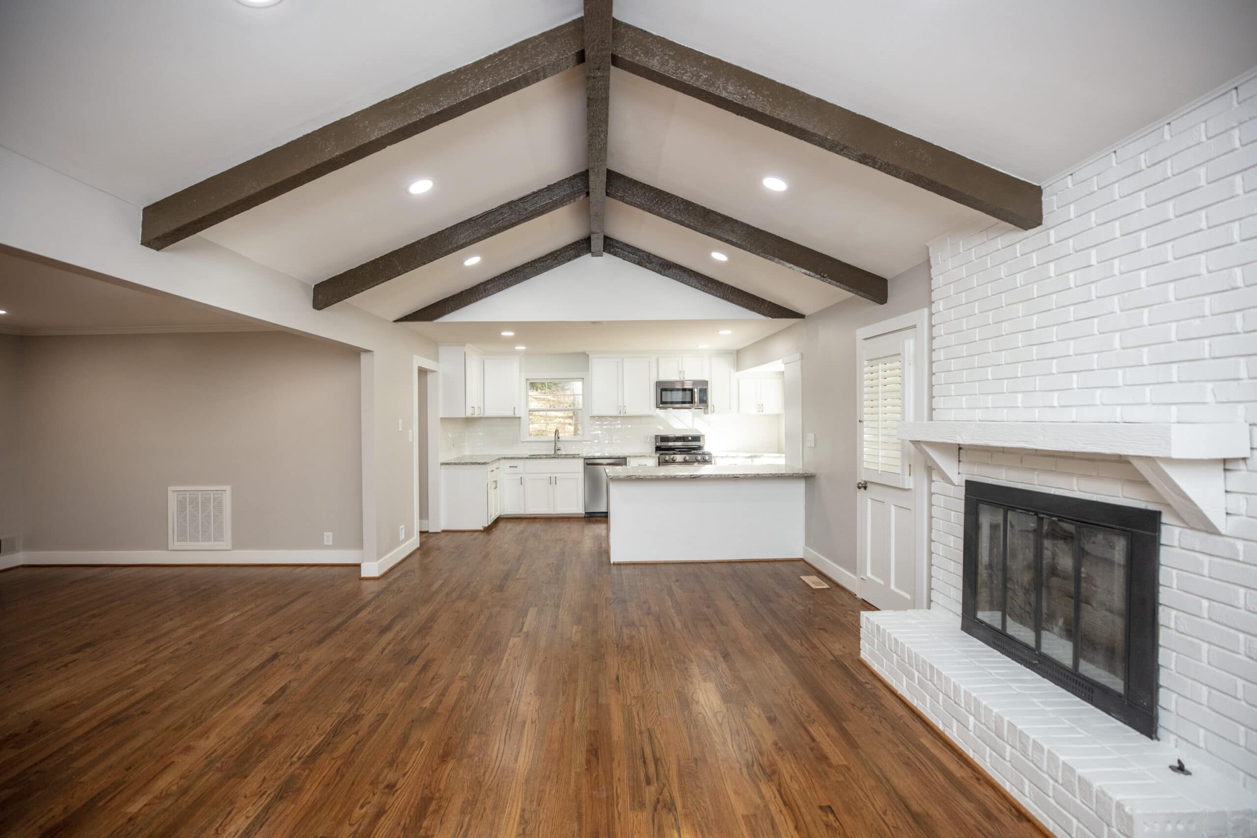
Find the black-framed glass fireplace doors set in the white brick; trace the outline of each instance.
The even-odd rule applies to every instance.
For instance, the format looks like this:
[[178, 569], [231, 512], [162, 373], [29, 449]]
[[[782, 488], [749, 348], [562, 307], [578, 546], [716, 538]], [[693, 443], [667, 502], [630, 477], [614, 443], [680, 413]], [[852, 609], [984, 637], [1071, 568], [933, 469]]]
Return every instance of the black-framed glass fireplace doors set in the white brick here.
[[1159, 534], [1156, 511], [970, 480], [962, 627], [1154, 736]]

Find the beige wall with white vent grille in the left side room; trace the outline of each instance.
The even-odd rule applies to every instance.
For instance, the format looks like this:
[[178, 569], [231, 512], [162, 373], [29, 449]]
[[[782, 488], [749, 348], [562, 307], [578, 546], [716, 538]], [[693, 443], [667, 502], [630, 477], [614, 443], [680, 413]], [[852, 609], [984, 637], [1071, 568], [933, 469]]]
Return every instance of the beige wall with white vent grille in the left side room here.
[[231, 486], [235, 549], [361, 548], [358, 354], [282, 332], [21, 338], [24, 548], [165, 550], [172, 485]]

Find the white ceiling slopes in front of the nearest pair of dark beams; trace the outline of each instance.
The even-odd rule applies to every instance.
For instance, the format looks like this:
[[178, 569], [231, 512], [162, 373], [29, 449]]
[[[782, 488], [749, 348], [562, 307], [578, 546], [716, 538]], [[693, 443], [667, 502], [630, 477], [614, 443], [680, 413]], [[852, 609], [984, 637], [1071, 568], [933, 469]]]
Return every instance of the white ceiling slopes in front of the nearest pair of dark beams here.
[[[0, 144], [145, 205], [577, 0], [6, 0]], [[618, 0], [617, 18], [1042, 181], [1257, 65], [1252, 0]]]

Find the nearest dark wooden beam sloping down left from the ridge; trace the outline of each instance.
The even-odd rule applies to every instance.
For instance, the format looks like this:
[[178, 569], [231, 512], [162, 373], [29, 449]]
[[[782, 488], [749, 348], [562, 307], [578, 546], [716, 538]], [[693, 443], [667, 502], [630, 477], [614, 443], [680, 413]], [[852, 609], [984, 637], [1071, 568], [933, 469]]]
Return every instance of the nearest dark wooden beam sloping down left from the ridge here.
[[312, 131], [145, 207], [155, 250], [585, 60], [579, 18]]

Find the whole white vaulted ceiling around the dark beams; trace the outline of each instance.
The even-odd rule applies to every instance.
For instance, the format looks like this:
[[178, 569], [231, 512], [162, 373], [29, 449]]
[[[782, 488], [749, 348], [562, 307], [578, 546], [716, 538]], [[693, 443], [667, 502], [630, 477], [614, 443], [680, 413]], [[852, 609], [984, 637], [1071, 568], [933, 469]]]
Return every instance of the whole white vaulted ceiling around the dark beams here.
[[[268, 9], [229, 0], [14, 0], [0, 9], [8, 114], [0, 144], [151, 205], [581, 13], [574, 0], [284, 0]], [[437, 339], [552, 310], [553, 320], [585, 324], [671, 319], [683, 346], [711, 334], [716, 320], [742, 320], [743, 346], [788, 324], [783, 314], [811, 314], [870, 288], [876, 298], [866, 275], [901, 273], [924, 259], [929, 239], [984, 210], [1009, 220], [1021, 210], [1016, 200], [1006, 210], [955, 188], [923, 187], [894, 166], [808, 142], [804, 129], [783, 128], [776, 116], [714, 102], [693, 79], [666, 78], [667, 67], [642, 69], [660, 43], [681, 58], [685, 44], [952, 150], [1001, 188], [1040, 183], [1257, 64], [1257, 4], [1246, 0], [617, 0], [615, 16], [649, 31], [632, 44], [617, 35], [613, 62], [586, 40], [582, 58], [595, 54], [593, 62], [573, 60], [507, 95], [471, 102], [196, 232], [312, 285], [426, 239], [420, 258], [386, 260], [397, 266], [387, 281], [331, 303], [390, 319], [442, 313], [437, 323], [411, 324]], [[588, 89], [587, 74], [597, 79]], [[596, 103], [587, 107], [601, 79], [610, 90], [606, 197], [591, 165], [603, 161], [590, 153], [601, 117]], [[806, 122], [806, 111], [784, 121]], [[587, 170], [592, 188], [522, 224], [490, 227], [466, 246], [463, 231], [453, 245], [436, 235]], [[766, 175], [791, 188], [769, 192]], [[421, 177], [434, 187], [407, 193]], [[654, 193], [626, 188], [632, 183], [684, 199], [684, 211], [669, 216]], [[710, 219], [691, 222], [691, 206]], [[729, 224], [742, 226], [730, 232]], [[597, 251], [603, 225], [610, 256], [571, 250], [593, 239]], [[465, 266], [469, 256], [480, 260]], [[600, 264], [612, 260], [623, 264]], [[553, 278], [538, 273], [547, 269]], [[660, 284], [659, 273], [676, 281]], [[574, 293], [600, 283], [601, 297]], [[634, 286], [656, 314], [612, 304]], [[314, 300], [322, 307], [318, 293]], [[611, 340], [625, 342], [622, 328], [613, 333]]]

